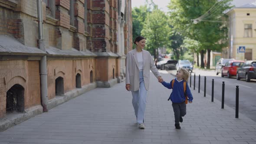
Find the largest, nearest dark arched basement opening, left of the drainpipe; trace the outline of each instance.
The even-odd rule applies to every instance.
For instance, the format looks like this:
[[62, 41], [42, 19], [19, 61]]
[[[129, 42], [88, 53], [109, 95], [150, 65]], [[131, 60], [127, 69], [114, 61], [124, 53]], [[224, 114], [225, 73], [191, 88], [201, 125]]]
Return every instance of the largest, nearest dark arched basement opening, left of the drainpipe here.
[[13, 85], [6, 93], [6, 112], [24, 111], [24, 88], [19, 84]]

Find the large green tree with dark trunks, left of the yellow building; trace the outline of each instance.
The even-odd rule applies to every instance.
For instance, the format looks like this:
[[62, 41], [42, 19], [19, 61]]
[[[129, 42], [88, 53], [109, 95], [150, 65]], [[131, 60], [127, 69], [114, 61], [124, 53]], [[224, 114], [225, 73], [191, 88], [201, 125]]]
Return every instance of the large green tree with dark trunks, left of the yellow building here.
[[[200, 42], [198, 50], [201, 54], [201, 67], [204, 67], [203, 54], [206, 51], [220, 51], [223, 46], [227, 45], [227, 28], [221, 21], [225, 17], [223, 12], [231, 8], [230, 1], [171, 0], [168, 6], [171, 25], [174, 29], [182, 36]], [[196, 24], [191, 21], [193, 19], [197, 20]], [[209, 54], [207, 68], [210, 68]]]

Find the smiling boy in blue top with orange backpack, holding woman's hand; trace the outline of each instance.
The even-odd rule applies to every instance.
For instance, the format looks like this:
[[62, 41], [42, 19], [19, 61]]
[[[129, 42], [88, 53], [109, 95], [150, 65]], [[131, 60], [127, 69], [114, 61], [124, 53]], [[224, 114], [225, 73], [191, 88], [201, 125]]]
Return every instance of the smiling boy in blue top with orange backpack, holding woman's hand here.
[[189, 75], [187, 70], [181, 68], [176, 74], [176, 79], [171, 80], [170, 83], [164, 82], [163, 80], [160, 81], [166, 88], [172, 89], [169, 99], [172, 101], [176, 129], [181, 129], [180, 122], [183, 121], [182, 117], [186, 115], [187, 101], [192, 103], [193, 100], [193, 96], [187, 84]]

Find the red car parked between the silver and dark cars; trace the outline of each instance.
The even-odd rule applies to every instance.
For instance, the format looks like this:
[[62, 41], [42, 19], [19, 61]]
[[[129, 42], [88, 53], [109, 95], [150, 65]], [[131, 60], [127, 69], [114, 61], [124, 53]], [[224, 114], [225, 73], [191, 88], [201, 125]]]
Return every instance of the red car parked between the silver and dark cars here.
[[238, 67], [243, 65], [244, 61], [240, 60], [232, 60], [226, 62], [221, 71], [221, 77], [227, 76], [230, 78], [231, 76], [236, 75], [236, 70]]

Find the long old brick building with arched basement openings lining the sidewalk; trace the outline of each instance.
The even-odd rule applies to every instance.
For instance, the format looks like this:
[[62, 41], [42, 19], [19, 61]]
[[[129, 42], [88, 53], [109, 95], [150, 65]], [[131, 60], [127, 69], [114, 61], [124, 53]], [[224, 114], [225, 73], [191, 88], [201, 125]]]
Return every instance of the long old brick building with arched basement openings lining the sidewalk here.
[[0, 130], [125, 79], [131, 0], [42, 0], [42, 33], [37, 1], [0, 0]]

